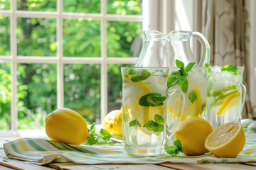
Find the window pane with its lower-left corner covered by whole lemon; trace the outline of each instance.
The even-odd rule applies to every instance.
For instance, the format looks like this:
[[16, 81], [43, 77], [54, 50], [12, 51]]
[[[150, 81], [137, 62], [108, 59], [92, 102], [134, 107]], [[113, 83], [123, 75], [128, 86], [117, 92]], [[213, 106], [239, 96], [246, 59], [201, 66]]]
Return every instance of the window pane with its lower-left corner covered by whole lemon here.
[[64, 106], [100, 123], [100, 64], [64, 64]]

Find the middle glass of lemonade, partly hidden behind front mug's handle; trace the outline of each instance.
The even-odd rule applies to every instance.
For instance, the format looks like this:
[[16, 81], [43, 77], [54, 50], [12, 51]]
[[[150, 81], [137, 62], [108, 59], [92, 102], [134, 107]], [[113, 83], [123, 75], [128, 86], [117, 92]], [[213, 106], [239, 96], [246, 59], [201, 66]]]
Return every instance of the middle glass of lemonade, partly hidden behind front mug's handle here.
[[[185, 71], [184, 71], [185, 70]], [[206, 77], [207, 67], [193, 67], [189, 72], [186, 69], [177, 67], [170, 68], [168, 78], [169, 91], [176, 90], [179, 93], [171, 94], [167, 101], [167, 116], [170, 120], [167, 127], [173, 127], [175, 120], [180, 122], [188, 118], [205, 118], [206, 115]], [[178, 82], [181, 79], [180, 82]], [[181, 95], [183, 94], [184, 104], [181, 108]], [[171, 129], [172, 131], [169, 131]], [[171, 145], [174, 142], [175, 128], [166, 130], [166, 143]]]

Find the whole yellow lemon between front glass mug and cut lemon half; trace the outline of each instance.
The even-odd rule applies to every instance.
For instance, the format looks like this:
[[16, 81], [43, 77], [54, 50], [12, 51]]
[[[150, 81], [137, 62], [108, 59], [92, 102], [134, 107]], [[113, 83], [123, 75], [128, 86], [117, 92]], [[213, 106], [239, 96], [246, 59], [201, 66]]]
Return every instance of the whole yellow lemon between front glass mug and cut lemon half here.
[[212, 131], [210, 123], [203, 118], [188, 118], [178, 125], [174, 137], [181, 140], [183, 154], [201, 155], [208, 152], [204, 143]]

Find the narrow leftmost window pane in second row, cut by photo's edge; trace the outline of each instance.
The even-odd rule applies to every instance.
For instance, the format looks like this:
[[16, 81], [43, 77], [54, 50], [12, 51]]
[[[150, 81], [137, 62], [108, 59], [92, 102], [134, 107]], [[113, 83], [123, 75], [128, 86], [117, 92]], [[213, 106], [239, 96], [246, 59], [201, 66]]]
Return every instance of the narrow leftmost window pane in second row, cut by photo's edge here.
[[10, 18], [0, 16], [0, 55], [10, 55]]

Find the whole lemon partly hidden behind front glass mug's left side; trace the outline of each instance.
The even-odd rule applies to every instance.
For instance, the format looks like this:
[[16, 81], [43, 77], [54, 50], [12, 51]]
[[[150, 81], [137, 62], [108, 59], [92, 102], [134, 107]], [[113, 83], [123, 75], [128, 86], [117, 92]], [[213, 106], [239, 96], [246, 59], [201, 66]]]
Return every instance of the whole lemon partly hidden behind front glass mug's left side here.
[[108, 113], [103, 120], [103, 128], [113, 135], [122, 136], [122, 111], [114, 110]]

